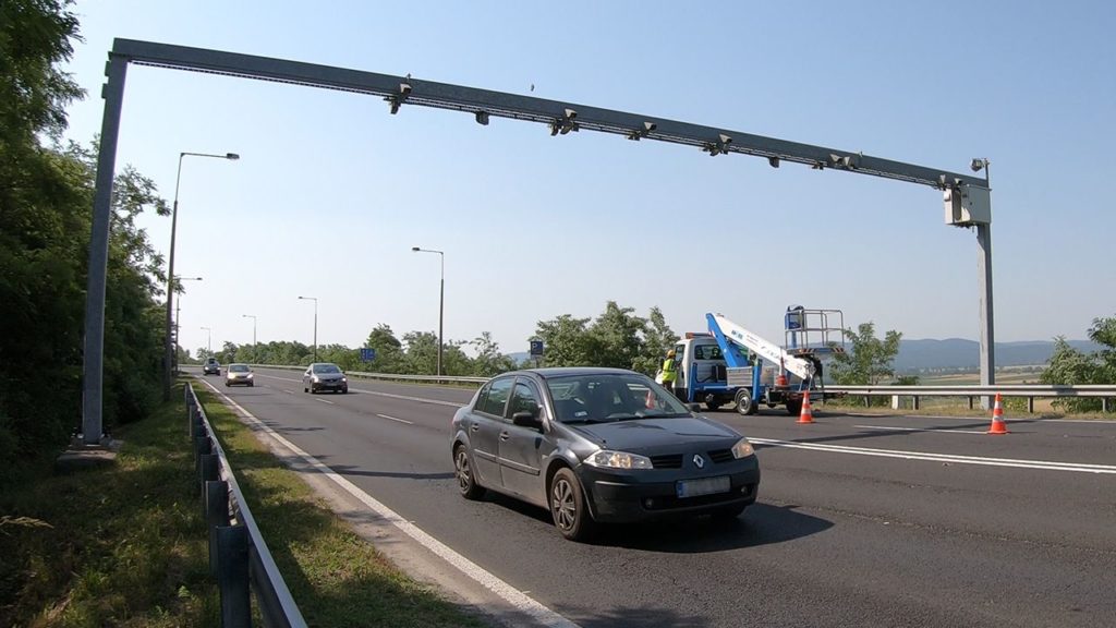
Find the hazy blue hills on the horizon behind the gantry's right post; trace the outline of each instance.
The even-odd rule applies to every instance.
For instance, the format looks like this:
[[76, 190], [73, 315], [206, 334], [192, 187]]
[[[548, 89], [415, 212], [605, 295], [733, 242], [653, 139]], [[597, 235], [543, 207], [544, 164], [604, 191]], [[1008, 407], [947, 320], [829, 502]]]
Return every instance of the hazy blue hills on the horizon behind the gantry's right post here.
[[[1085, 340], [1068, 342], [1074, 349], [1086, 353], [1100, 349], [1100, 345]], [[1052, 354], [1054, 341], [995, 343], [998, 368], [1041, 365], [1046, 364]], [[899, 373], [977, 369], [979, 365], [980, 344], [977, 341], [956, 337], [899, 341], [899, 353], [895, 358], [895, 370]]]

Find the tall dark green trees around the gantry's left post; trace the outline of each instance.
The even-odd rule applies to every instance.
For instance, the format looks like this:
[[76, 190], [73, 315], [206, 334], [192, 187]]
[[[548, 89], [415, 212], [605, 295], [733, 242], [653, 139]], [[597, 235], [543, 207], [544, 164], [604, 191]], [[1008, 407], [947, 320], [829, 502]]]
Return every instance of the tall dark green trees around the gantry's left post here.
[[[0, 2], [0, 457], [57, 448], [81, 417], [81, 341], [94, 151], [57, 137], [81, 91], [57, 69], [77, 20], [68, 2]], [[49, 145], [44, 141], [54, 140]], [[162, 260], [135, 218], [165, 211], [125, 168], [114, 182], [105, 291], [104, 426], [157, 402]], [[48, 391], [45, 393], [45, 391]], [[12, 468], [15, 465], [6, 465]], [[0, 483], [8, 477], [0, 470]]]

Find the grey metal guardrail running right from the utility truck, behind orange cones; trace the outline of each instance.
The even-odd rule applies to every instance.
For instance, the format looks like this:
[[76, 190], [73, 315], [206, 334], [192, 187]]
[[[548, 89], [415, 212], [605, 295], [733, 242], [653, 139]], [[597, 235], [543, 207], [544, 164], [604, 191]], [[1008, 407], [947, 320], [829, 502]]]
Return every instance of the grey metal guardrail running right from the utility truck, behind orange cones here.
[[1116, 399], [1116, 386], [1083, 384], [1083, 386], [1043, 386], [1043, 384], [993, 384], [993, 386], [827, 386], [826, 392], [844, 392], [865, 397], [911, 397], [914, 409], [918, 409], [922, 397], [966, 397], [969, 409], [974, 408], [974, 400], [1000, 393], [1002, 397], [1027, 398], [1027, 411], [1035, 411], [1035, 399], [1046, 397], [1090, 397], [1100, 399], [1100, 410], [1108, 412], [1110, 401]]

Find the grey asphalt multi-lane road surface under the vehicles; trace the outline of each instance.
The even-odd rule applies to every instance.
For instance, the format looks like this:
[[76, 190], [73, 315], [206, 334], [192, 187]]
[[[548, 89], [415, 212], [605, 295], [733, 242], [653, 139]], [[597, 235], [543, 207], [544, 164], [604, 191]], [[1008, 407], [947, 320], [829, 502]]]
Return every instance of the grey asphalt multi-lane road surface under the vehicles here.
[[974, 419], [714, 412], [757, 443], [752, 508], [577, 544], [546, 511], [458, 496], [449, 424], [471, 391], [352, 380], [350, 394], [310, 396], [300, 374], [221, 390], [586, 628], [1116, 626], [1113, 422], [1009, 416], [1011, 434], [989, 436]]

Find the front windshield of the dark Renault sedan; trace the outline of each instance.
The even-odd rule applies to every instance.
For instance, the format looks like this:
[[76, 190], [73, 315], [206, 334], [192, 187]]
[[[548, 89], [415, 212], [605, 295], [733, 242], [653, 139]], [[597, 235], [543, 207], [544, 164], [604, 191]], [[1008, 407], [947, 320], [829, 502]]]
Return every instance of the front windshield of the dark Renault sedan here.
[[676, 397], [636, 373], [547, 378], [547, 388], [556, 418], [564, 424], [690, 416]]

